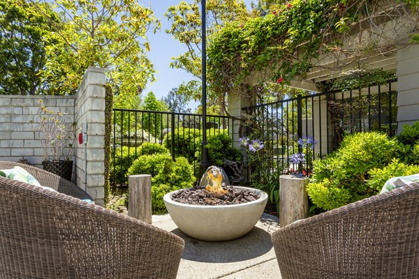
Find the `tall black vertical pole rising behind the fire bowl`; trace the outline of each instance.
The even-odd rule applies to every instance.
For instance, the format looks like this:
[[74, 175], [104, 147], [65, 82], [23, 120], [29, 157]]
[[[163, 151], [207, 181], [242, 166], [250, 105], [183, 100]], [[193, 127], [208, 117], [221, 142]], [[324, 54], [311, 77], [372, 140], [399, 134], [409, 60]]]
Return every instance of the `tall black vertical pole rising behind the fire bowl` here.
[[206, 0], [202, 0], [202, 8], [201, 8], [201, 24], [202, 24], [202, 93], [203, 93], [203, 142], [201, 143], [201, 163], [200, 163], [200, 177], [202, 177], [207, 167], [210, 167], [210, 163], [208, 162], [208, 150], [206, 148], [207, 145], [207, 23], [205, 19], [206, 15]]

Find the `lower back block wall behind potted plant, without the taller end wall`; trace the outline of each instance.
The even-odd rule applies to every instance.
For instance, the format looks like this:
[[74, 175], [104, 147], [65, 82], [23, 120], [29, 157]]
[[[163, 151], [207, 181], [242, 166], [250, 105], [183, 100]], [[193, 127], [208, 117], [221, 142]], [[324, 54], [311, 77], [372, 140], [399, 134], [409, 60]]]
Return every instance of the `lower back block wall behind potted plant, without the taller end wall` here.
[[0, 160], [26, 159], [42, 168], [45, 151], [36, 131], [41, 117], [39, 100], [49, 110], [66, 113], [66, 122], [73, 123], [74, 96], [0, 95]]

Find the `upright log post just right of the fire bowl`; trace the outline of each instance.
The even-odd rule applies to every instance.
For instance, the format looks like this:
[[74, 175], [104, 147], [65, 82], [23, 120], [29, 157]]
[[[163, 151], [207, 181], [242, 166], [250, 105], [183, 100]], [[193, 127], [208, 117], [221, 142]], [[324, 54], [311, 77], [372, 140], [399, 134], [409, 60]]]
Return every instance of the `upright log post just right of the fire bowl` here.
[[307, 218], [309, 197], [306, 186], [309, 179], [292, 175], [279, 176], [279, 225], [284, 227]]

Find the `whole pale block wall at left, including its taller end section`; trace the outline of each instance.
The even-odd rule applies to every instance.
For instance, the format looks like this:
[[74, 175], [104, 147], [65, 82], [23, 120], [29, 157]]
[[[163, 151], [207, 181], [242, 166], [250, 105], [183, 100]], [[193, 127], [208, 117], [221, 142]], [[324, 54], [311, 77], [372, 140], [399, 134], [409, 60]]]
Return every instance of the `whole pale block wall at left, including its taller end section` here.
[[[40, 121], [40, 106], [67, 114], [67, 123], [76, 123], [73, 181], [94, 198], [104, 201], [104, 135], [105, 135], [105, 70], [89, 67], [76, 96], [0, 95], [0, 160], [17, 162], [27, 159], [42, 168], [43, 144], [36, 128]], [[34, 121], [34, 127], [30, 121]], [[78, 143], [82, 123], [87, 126], [87, 141]], [[35, 128], [35, 129], [34, 129]]]

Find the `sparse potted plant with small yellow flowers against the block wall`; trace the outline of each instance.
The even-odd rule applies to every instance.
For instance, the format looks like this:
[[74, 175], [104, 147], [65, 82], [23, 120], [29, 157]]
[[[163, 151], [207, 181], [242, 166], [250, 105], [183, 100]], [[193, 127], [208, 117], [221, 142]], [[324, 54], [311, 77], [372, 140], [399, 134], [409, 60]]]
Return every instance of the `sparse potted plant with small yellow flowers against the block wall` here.
[[48, 110], [42, 100], [38, 100], [38, 103], [41, 108], [40, 123], [30, 122], [43, 144], [45, 161], [69, 160], [73, 149], [75, 122], [68, 123], [66, 114], [62, 112]]

